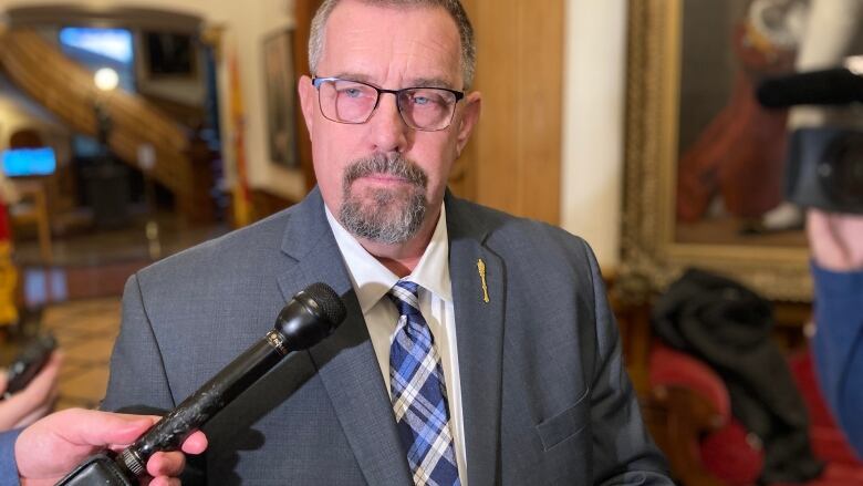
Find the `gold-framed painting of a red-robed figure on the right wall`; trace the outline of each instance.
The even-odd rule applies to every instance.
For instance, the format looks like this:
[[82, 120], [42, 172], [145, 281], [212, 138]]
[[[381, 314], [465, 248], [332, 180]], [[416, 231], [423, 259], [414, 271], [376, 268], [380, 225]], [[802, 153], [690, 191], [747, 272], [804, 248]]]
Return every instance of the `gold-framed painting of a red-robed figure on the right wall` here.
[[763, 76], [793, 70], [799, 0], [630, 0], [621, 277], [662, 291], [686, 268], [774, 300], [811, 299], [802, 211], [783, 203], [787, 111]]

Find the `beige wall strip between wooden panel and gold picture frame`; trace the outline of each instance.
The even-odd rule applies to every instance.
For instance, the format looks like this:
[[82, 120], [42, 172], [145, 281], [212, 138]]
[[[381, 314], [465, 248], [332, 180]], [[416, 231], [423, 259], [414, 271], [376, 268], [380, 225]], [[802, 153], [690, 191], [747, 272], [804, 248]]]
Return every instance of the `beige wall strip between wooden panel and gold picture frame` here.
[[626, 0], [568, 0], [561, 226], [620, 261]]

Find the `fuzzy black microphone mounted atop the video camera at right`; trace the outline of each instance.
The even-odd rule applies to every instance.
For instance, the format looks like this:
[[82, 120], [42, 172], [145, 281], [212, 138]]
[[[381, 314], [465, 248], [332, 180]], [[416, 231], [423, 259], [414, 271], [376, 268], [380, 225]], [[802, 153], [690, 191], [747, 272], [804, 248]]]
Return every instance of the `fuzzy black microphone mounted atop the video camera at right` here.
[[863, 76], [836, 68], [768, 77], [758, 86], [756, 97], [769, 108], [846, 105], [863, 102]]

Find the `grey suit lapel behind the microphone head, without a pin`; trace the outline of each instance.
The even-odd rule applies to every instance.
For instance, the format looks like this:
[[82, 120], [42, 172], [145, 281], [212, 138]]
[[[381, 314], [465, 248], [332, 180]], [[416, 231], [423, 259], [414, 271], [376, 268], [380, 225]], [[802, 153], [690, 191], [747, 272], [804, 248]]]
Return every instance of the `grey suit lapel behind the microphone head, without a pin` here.
[[336, 332], [309, 350], [335, 415], [368, 484], [412, 484], [389, 395], [342, 255], [314, 189], [289, 223], [282, 251], [297, 260], [279, 278], [285, 301], [313, 282], [342, 296], [347, 318]]

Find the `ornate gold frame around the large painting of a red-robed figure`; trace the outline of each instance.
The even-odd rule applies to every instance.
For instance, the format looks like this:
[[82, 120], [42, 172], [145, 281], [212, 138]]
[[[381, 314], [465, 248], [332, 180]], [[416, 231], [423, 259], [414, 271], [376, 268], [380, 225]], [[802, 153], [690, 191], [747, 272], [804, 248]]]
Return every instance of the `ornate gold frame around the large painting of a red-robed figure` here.
[[687, 267], [729, 276], [776, 300], [809, 301], [803, 247], [675, 241], [675, 174], [684, 0], [628, 0], [628, 70], [621, 287], [636, 298]]

